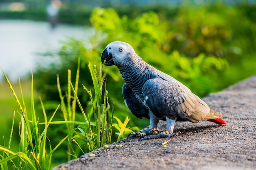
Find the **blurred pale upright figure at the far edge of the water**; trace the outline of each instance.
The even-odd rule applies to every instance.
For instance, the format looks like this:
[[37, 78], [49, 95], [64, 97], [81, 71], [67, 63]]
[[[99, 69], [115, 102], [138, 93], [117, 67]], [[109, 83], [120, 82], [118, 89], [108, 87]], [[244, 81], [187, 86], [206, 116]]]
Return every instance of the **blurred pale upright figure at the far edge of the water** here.
[[49, 5], [46, 7], [48, 20], [51, 24], [51, 28], [55, 28], [58, 22], [58, 10], [61, 7], [60, 0], [52, 0]]

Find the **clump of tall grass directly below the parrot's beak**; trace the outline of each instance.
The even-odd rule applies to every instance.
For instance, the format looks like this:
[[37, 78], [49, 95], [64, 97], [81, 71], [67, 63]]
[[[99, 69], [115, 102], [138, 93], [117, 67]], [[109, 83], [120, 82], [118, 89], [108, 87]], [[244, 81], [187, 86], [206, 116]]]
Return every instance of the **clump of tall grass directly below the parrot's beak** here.
[[[80, 64], [80, 59], [79, 59]], [[74, 121], [75, 118], [75, 111], [76, 111], [76, 102], [81, 110], [81, 113], [83, 114], [84, 121], [88, 123], [87, 126], [79, 126], [79, 132], [74, 133], [74, 136], [70, 136], [70, 141], [72, 140], [81, 150], [82, 153], [90, 152], [96, 148], [100, 148], [104, 144], [110, 144], [111, 137], [112, 137], [112, 121], [113, 121], [113, 109], [114, 109], [114, 103], [112, 105], [112, 112], [110, 115], [109, 109], [110, 104], [108, 101], [108, 91], [106, 89], [106, 79], [104, 78], [105, 75], [102, 77], [101, 69], [99, 70], [99, 74], [97, 74], [96, 66], [92, 66], [91, 63], [88, 65], [92, 81], [94, 84], [94, 92], [95, 95], [92, 95], [92, 92], [88, 90], [84, 85], [83, 88], [86, 90], [86, 92], [90, 96], [90, 103], [91, 103], [91, 109], [87, 113], [85, 113], [81, 102], [77, 96], [77, 85], [78, 85], [78, 78], [79, 78], [79, 67], [76, 74], [76, 83], [75, 86], [72, 85], [71, 77], [70, 77], [70, 70], [69, 70], [69, 80], [68, 80], [68, 94], [67, 96], [67, 103], [69, 103], [72, 106], [72, 111], [65, 109], [67, 106], [65, 105], [65, 102], [62, 100], [62, 110], [65, 120]], [[59, 87], [59, 85], [58, 85]], [[105, 87], [105, 88], [103, 88]], [[71, 91], [73, 92], [74, 100], [72, 104], [70, 103], [70, 95]], [[61, 96], [61, 89], [59, 87], [59, 94]], [[95, 97], [94, 97], [95, 96]], [[69, 107], [71, 108], [71, 107]], [[72, 114], [70, 114], [72, 113]], [[73, 127], [69, 126], [69, 129], [72, 129]], [[81, 142], [79, 141], [82, 141]], [[74, 148], [72, 148], [72, 145], [70, 144], [68, 150], [72, 150], [73, 156], [78, 157], [76, 153], [74, 152]]]

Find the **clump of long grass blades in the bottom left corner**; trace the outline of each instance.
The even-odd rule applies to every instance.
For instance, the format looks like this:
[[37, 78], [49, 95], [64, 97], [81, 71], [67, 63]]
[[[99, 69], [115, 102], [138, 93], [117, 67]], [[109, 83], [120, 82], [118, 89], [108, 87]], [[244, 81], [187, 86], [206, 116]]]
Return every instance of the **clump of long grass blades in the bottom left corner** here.
[[[3, 70], [2, 70], [3, 71]], [[4, 73], [4, 71], [3, 71]], [[34, 93], [33, 93], [33, 74], [32, 74], [32, 80], [31, 80], [31, 117], [32, 120], [29, 120], [29, 115], [27, 113], [26, 105], [23, 100], [22, 95], [22, 104], [18, 97], [16, 96], [16, 93], [4, 73], [4, 76], [7, 80], [7, 83], [9, 84], [9, 87], [13, 93], [14, 98], [16, 99], [16, 102], [19, 106], [20, 112], [18, 111], [18, 114], [20, 115], [20, 124], [19, 124], [19, 135], [20, 135], [20, 147], [19, 150], [13, 150], [11, 149], [11, 139], [13, 134], [13, 124], [14, 124], [14, 118], [13, 118], [13, 124], [11, 127], [11, 135], [9, 138], [9, 145], [6, 146], [0, 146], [0, 151], [2, 151], [3, 155], [1, 155], [0, 160], [0, 166], [1, 169], [8, 169], [7, 162], [11, 162], [11, 166], [13, 169], [32, 169], [32, 170], [45, 170], [51, 168], [51, 160], [52, 160], [52, 154], [54, 151], [60, 146], [66, 139], [69, 137], [76, 129], [72, 129], [66, 137], [64, 137], [56, 146], [54, 149], [52, 149], [52, 146], [50, 144], [49, 139], [47, 138], [47, 129], [49, 124], [59, 124], [59, 123], [72, 123], [68, 121], [64, 122], [52, 122], [52, 119], [54, 118], [54, 115], [56, 111], [58, 110], [58, 107], [52, 113], [51, 118], [49, 120], [47, 119], [47, 115], [44, 109], [44, 105], [42, 100], [40, 99], [42, 108], [43, 108], [43, 116], [44, 116], [44, 122], [40, 123], [39, 118], [37, 119], [36, 111], [35, 111], [35, 105], [34, 105]], [[20, 85], [20, 90], [22, 94], [22, 88]], [[81, 122], [83, 123], [83, 122]], [[40, 131], [39, 125], [43, 124], [44, 128], [43, 131]], [[49, 150], [47, 150], [49, 148]], [[16, 160], [18, 159], [18, 160]], [[16, 164], [14, 163], [16, 162]]]

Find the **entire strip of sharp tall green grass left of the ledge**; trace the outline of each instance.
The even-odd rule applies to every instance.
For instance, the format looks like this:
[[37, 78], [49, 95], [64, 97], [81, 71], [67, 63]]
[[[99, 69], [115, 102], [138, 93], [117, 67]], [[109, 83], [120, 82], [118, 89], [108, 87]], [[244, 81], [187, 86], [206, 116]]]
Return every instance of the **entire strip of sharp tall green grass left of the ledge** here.
[[[18, 115], [20, 116], [19, 124], [19, 135], [20, 135], [20, 147], [19, 150], [13, 150], [11, 147], [11, 140], [13, 134], [13, 126], [15, 114], [13, 116], [13, 123], [11, 127], [11, 134], [9, 137], [8, 146], [0, 146], [0, 167], [2, 170], [7, 170], [9, 168], [8, 162], [11, 163], [13, 169], [31, 169], [31, 170], [49, 170], [52, 168], [52, 158], [54, 157], [54, 151], [64, 142], [68, 141], [69, 145], [67, 147], [67, 160], [71, 158], [77, 158], [79, 155], [76, 154], [74, 146], [81, 150], [81, 153], [90, 152], [96, 148], [99, 148], [105, 144], [111, 143], [112, 137], [112, 127], [114, 126], [118, 131], [118, 140], [123, 135], [126, 125], [129, 121], [126, 118], [125, 122], [122, 123], [121, 120], [115, 117], [119, 122], [118, 124], [113, 124], [113, 109], [114, 103], [112, 105], [112, 111], [110, 112], [110, 104], [108, 99], [108, 91], [106, 88], [105, 75], [102, 76], [102, 69], [100, 68], [99, 74], [97, 74], [96, 66], [89, 63], [89, 70], [92, 75], [92, 81], [94, 85], [93, 95], [90, 90], [88, 90], [84, 85], [83, 88], [90, 96], [91, 108], [86, 113], [83, 110], [81, 102], [77, 96], [78, 84], [79, 84], [79, 67], [80, 59], [78, 62], [78, 68], [76, 71], [76, 80], [73, 86], [71, 82], [71, 71], [68, 70], [68, 87], [67, 92], [63, 96], [61, 87], [59, 84], [59, 77], [57, 76], [57, 86], [58, 92], [61, 100], [61, 104], [52, 113], [52, 116], [48, 119], [43, 101], [40, 98], [40, 104], [42, 106], [43, 112], [43, 122], [40, 122], [38, 118], [38, 113], [36, 113], [34, 104], [34, 89], [33, 89], [33, 73], [31, 78], [31, 120], [29, 120], [29, 113], [27, 113], [26, 105], [24, 102], [22, 88], [20, 84], [20, 91], [22, 101], [18, 99], [8, 77], [4, 73], [4, 76], [9, 84], [12, 94], [18, 104], [19, 110]], [[2, 68], [1, 68], [2, 69]], [[66, 98], [66, 100], [64, 100]], [[76, 105], [79, 106], [81, 113], [83, 114], [83, 119], [76, 121]], [[53, 121], [53, 118], [61, 107], [64, 120]], [[79, 112], [80, 113], [80, 112]], [[50, 124], [65, 124], [66, 125], [66, 136], [61, 139], [60, 142], [52, 148], [50, 139], [47, 137], [47, 130]], [[43, 127], [41, 130], [40, 127]], [[58, 139], [58, 135], [55, 135]], [[73, 157], [72, 157], [73, 156]]]

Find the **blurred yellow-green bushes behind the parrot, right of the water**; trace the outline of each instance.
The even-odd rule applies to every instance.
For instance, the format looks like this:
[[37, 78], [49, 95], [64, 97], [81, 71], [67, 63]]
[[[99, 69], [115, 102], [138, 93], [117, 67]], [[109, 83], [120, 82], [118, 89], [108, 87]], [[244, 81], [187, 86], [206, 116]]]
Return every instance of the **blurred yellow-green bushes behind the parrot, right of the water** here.
[[[45, 54], [59, 57], [61, 62], [38, 68], [34, 76], [37, 89], [49, 103], [48, 109], [56, 108], [56, 74], [61, 86], [66, 87], [67, 69], [76, 70], [81, 57], [78, 94], [86, 106], [89, 96], [81, 83], [92, 87], [88, 61], [99, 65], [108, 43], [125, 41], [147, 63], [181, 81], [200, 97], [217, 92], [256, 73], [255, 9], [253, 4], [182, 4], [177, 9], [153, 9], [135, 17], [124, 11], [120, 15], [112, 8], [96, 8], [90, 16], [96, 33], [88, 41], [67, 39], [58, 52]], [[103, 67], [103, 71], [107, 73], [110, 100], [116, 103], [115, 116], [122, 121], [129, 116], [128, 126], [148, 125], [147, 120], [141, 122], [124, 106], [124, 82], [117, 68]]]

